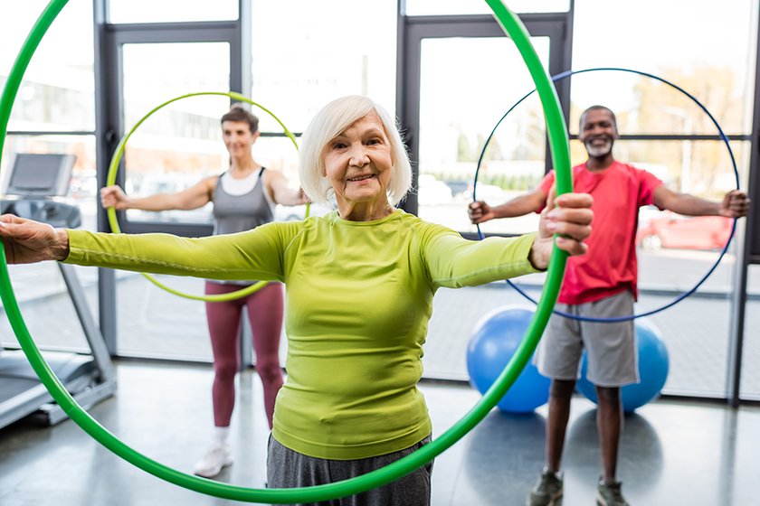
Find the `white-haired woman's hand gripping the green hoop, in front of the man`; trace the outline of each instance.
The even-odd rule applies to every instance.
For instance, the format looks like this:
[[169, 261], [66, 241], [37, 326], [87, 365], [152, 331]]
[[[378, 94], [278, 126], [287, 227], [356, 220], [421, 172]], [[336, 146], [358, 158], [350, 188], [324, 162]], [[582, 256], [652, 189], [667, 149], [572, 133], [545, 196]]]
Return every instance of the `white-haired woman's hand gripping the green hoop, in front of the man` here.
[[557, 248], [570, 255], [584, 255], [588, 246], [584, 239], [591, 235], [591, 221], [594, 211], [591, 206], [594, 198], [588, 193], [565, 193], [555, 198], [555, 189], [549, 192], [546, 208], [541, 211], [538, 222], [538, 235], [533, 241], [528, 259], [533, 267], [544, 270], [549, 266], [549, 258], [554, 246], [554, 234]]

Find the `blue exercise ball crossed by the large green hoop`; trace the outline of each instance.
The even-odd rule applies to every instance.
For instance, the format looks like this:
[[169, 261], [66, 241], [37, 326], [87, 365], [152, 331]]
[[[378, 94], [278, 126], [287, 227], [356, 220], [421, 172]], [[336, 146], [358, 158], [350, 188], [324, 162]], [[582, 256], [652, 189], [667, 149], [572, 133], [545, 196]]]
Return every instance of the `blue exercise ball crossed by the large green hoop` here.
[[[506, 305], [486, 314], [475, 325], [467, 347], [467, 370], [470, 385], [481, 394], [496, 382], [515, 354], [533, 313], [532, 307]], [[497, 406], [502, 411], [529, 413], [549, 399], [551, 379], [538, 374], [531, 362], [499, 401]]]

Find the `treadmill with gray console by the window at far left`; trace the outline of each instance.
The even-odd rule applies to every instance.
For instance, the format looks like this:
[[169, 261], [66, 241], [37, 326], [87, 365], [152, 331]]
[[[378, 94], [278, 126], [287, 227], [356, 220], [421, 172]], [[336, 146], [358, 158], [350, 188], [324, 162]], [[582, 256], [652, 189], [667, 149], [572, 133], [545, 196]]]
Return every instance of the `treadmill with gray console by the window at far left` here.
[[[0, 212], [43, 221], [56, 228], [80, 227], [79, 208], [53, 198], [68, 192], [74, 160], [74, 155], [15, 155], [0, 189], [7, 199], [0, 201]], [[116, 375], [75, 267], [57, 264], [91, 353], [42, 351], [42, 354], [71, 396], [82, 408], [89, 409], [116, 392]], [[24, 351], [0, 347], [0, 428], [30, 415], [44, 426], [55, 425], [68, 417], [55, 404]]]

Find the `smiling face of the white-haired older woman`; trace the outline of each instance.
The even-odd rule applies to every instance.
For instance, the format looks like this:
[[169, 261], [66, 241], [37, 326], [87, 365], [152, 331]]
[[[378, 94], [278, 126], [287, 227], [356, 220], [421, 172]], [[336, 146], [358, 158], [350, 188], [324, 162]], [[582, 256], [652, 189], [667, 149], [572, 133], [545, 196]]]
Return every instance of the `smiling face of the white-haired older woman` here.
[[394, 211], [386, 193], [393, 169], [391, 145], [375, 111], [330, 140], [322, 161], [341, 218], [379, 220]]

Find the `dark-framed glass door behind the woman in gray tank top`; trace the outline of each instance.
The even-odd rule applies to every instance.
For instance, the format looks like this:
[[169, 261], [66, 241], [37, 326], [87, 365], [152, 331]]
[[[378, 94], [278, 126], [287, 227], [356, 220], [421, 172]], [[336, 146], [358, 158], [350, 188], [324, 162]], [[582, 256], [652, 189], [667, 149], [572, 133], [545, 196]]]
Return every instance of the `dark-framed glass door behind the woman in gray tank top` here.
[[[100, 13], [102, 16], [102, 13]], [[98, 25], [99, 182], [105, 182], [119, 139], [141, 118], [182, 95], [250, 89], [250, 53], [243, 58], [240, 20], [199, 23], [108, 23]], [[249, 61], [248, 66], [244, 61]], [[116, 182], [130, 196], [179, 192], [229, 165], [220, 118], [230, 99], [183, 98], [161, 108], [130, 136]], [[118, 211], [128, 233], [168, 232], [210, 235], [210, 206], [194, 211]], [[100, 230], [110, 230], [105, 213]], [[170, 294], [144, 276], [124, 271], [100, 273], [100, 297], [107, 306], [104, 334], [120, 356], [211, 361], [205, 305]], [[162, 277], [167, 286], [203, 295], [204, 280]], [[103, 325], [101, 325], [102, 327]]]

